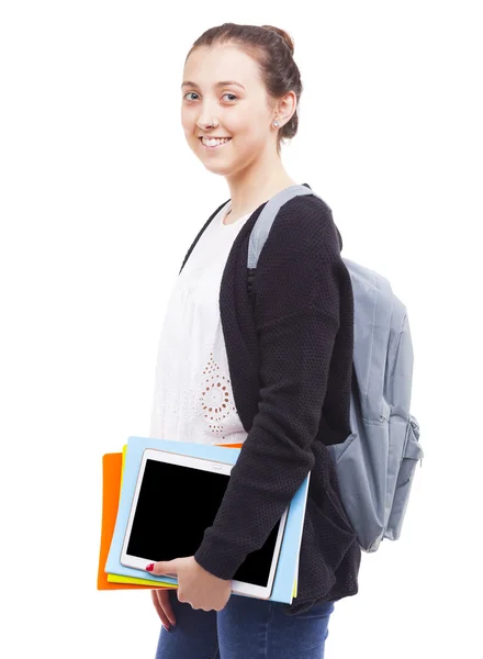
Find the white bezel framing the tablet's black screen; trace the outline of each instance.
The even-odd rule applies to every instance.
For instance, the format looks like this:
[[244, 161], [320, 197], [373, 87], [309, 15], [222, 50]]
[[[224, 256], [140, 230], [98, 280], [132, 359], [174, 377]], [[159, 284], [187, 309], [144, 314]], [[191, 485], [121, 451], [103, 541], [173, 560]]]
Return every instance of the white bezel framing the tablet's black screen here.
[[[228, 465], [227, 462], [210, 460], [206, 458], [196, 458], [193, 456], [186, 456], [183, 454], [171, 453], [167, 450], [146, 448], [143, 451], [143, 458], [139, 466], [139, 472], [137, 474], [136, 489], [134, 492], [133, 501], [131, 504], [130, 517], [127, 521], [126, 532], [124, 534], [123, 547], [121, 550], [121, 565], [135, 568], [137, 570], [146, 570], [146, 566], [151, 562], [156, 562], [154, 559], [141, 558], [138, 556], [132, 556], [127, 554], [127, 545], [131, 537], [131, 530], [133, 527], [134, 515], [137, 506], [137, 500], [139, 496], [141, 484], [143, 482], [144, 471], [146, 468], [146, 460], [158, 460], [161, 462], [170, 462], [172, 465], [180, 465], [186, 467], [192, 467], [194, 469], [202, 469], [203, 471], [213, 471], [228, 474], [232, 472], [233, 465]], [[279, 526], [279, 533], [277, 535], [276, 546], [273, 550], [272, 562], [270, 566], [270, 573], [268, 583], [266, 587], [258, 585], [255, 583], [248, 583], [246, 581], [237, 581], [236, 579], [232, 580], [232, 592], [239, 593], [242, 595], [250, 595], [252, 597], [259, 597], [261, 600], [268, 600], [271, 595], [273, 589], [274, 576], [277, 572], [277, 566], [280, 558], [280, 549], [283, 539], [283, 533], [287, 524], [287, 516], [289, 513], [289, 507], [284, 511]], [[149, 572], [146, 572], [145, 578], [149, 577]], [[176, 577], [175, 574], [169, 574], [169, 577]], [[175, 584], [173, 584], [175, 585]]]

